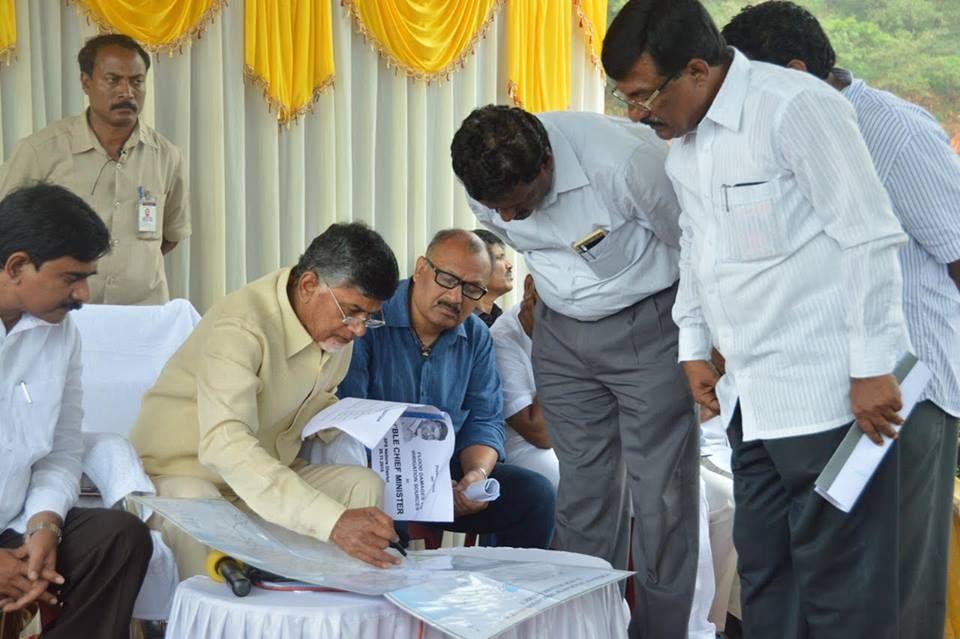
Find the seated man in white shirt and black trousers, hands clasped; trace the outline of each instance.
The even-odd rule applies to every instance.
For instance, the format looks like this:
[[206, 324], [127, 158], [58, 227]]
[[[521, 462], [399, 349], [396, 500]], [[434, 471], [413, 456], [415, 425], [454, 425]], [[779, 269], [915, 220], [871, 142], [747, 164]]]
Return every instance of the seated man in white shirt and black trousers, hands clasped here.
[[70, 191], [0, 202], [0, 604], [61, 606], [43, 636], [126, 636], [153, 552], [146, 525], [74, 508], [80, 490], [80, 336], [68, 313], [110, 235]]

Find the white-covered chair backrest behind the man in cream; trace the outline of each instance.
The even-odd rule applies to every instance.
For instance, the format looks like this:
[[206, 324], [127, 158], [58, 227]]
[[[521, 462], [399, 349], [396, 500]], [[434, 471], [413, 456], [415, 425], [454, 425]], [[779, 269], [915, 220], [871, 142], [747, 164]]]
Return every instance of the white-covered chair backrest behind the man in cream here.
[[130, 432], [144, 393], [200, 315], [187, 300], [163, 306], [88, 304], [71, 316], [83, 349], [83, 430]]

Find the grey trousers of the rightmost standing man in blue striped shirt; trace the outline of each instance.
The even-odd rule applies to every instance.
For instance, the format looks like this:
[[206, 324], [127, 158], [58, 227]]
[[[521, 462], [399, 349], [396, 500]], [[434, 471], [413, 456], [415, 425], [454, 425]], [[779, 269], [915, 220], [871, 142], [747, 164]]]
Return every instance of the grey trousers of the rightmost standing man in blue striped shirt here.
[[942, 639], [956, 417], [933, 402], [918, 404], [900, 447], [900, 638]]

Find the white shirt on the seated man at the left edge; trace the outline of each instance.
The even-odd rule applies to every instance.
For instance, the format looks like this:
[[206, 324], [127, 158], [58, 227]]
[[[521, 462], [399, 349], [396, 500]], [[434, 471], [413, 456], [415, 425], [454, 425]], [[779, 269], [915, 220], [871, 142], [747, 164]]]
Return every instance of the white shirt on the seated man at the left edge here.
[[80, 335], [68, 315], [0, 324], [0, 530], [66, 517], [80, 492]]

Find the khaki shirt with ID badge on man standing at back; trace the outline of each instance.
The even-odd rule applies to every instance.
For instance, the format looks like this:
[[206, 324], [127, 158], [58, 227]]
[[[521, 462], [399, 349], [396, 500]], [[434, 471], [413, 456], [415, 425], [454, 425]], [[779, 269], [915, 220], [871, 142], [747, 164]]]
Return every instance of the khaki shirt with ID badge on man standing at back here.
[[[17, 144], [0, 167], [0, 197], [37, 181], [70, 189], [110, 229], [110, 253], [90, 278], [91, 302], [162, 304], [170, 299], [160, 244], [190, 236], [187, 187], [173, 143], [140, 122], [114, 161], [85, 113], [64, 118]], [[138, 187], [156, 200], [157, 232], [137, 231]]]

